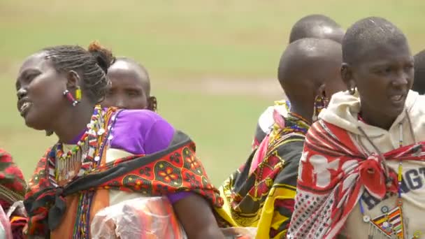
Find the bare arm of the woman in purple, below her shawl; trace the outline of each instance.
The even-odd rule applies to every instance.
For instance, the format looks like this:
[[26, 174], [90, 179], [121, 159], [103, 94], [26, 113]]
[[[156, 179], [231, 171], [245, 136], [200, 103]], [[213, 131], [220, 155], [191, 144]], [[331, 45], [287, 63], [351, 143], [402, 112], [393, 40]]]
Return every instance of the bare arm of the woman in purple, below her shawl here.
[[186, 196], [174, 203], [173, 208], [189, 239], [224, 239], [210, 204], [201, 196]]

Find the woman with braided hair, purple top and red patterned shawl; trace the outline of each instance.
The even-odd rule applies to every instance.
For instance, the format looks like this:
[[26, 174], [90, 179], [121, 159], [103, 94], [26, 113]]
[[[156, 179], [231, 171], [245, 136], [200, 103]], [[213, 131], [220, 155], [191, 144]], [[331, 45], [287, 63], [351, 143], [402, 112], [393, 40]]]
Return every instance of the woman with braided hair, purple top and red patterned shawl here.
[[224, 238], [211, 209], [222, 200], [194, 142], [151, 110], [97, 105], [110, 87], [112, 59], [92, 43], [45, 48], [22, 64], [17, 109], [27, 126], [58, 137], [29, 180], [25, 232], [90, 238], [99, 210], [166, 196], [188, 238]]

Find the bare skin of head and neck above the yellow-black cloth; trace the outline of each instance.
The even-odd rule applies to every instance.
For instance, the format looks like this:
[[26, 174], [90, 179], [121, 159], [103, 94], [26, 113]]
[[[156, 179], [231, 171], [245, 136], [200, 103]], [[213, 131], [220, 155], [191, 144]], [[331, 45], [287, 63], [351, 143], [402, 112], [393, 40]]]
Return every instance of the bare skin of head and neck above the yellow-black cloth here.
[[330, 99], [333, 94], [345, 89], [340, 77], [341, 46], [332, 42], [331, 45], [305, 50], [304, 47], [289, 45], [285, 54], [286, 60], [281, 64], [287, 65], [282, 65], [285, 70], [282, 70], [280, 80], [284, 82], [284, 90], [291, 101], [291, 112], [311, 121], [316, 96]]

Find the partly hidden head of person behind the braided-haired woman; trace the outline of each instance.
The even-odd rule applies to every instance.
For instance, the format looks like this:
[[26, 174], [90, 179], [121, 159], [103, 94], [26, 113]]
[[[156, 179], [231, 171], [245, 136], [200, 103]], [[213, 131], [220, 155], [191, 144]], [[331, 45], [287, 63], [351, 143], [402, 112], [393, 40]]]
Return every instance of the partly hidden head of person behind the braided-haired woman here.
[[154, 110], [150, 96], [150, 82], [144, 70], [130, 61], [117, 60], [108, 69], [112, 85], [101, 103], [103, 107]]

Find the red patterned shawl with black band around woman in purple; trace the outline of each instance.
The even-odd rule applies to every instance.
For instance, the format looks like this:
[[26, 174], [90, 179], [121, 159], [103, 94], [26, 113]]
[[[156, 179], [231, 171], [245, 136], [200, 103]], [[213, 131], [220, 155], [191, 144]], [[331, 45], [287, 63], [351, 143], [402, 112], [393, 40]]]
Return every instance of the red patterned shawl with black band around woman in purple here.
[[29, 215], [28, 234], [48, 235], [48, 231], [61, 222], [65, 197], [94, 189], [134, 191], [146, 196], [192, 191], [220, 208], [222, 198], [210, 183], [195, 151], [195, 143], [185, 133], [176, 131], [166, 150], [117, 159], [94, 168], [88, 175], [75, 178], [65, 187], [57, 187], [46, 173], [55, 168], [55, 161], [46, 158], [48, 150], [38, 162], [25, 196], [24, 205]]

